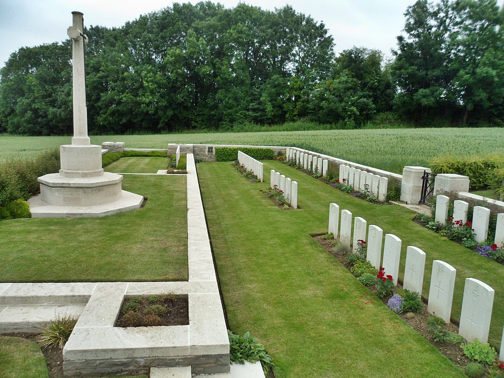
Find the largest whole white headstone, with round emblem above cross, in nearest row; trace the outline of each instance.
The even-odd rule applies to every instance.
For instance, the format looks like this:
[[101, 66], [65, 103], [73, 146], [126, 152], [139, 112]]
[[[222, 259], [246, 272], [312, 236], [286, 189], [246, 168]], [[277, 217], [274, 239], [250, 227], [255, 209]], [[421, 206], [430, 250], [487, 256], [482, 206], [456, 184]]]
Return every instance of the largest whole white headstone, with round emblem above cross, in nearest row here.
[[478, 339], [483, 344], [488, 342], [494, 294], [495, 291], [484, 282], [466, 278], [459, 335], [467, 341]]

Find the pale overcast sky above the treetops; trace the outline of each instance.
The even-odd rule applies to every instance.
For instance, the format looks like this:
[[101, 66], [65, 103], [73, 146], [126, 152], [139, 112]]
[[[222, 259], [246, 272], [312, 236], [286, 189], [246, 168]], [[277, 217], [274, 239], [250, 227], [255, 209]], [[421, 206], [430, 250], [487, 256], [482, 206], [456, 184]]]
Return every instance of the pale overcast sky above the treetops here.
[[[0, 68], [20, 47], [67, 39], [72, 11], [84, 13], [87, 26], [120, 27], [173, 3], [166, 0], [0, 0]], [[219, 3], [234, 8], [240, 1]], [[242, 0], [241, 3], [265, 10], [291, 5], [296, 12], [310, 15], [329, 29], [337, 54], [358, 46], [380, 49], [391, 55], [390, 50], [396, 48], [396, 36], [404, 27], [404, 12], [415, 0]]]

